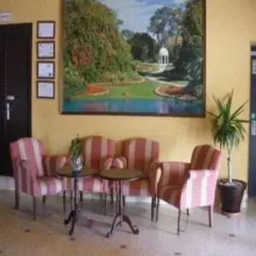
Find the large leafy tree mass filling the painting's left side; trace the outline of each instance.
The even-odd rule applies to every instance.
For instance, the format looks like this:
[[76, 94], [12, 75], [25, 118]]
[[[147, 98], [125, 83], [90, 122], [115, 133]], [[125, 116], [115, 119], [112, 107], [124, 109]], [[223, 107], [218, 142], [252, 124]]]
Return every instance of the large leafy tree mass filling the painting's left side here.
[[64, 8], [65, 96], [86, 83], [136, 78], [130, 45], [119, 33], [122, 20], [112, 9], [95, 0], [67, 0]]

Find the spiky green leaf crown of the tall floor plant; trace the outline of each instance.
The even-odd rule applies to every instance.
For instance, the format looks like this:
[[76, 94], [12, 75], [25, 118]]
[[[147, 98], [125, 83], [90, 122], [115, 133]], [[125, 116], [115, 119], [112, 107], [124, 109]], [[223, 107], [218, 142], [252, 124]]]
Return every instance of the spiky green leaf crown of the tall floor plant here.
[[220, 148], [226, 148], [230, 154], [231, 150], [245, 138], [246, 130], [243, 124], [249, 121], [239, 119], [239, 115], [244, 112], [247, 102], [241, 104], [232, 113], [233, 91], [228, 93], [223, 101], [214, 96], [213, 100], [218, 111], [217, 113], [208, 112], [212, 115], [212, 138], [215, 144], [219, 144]]

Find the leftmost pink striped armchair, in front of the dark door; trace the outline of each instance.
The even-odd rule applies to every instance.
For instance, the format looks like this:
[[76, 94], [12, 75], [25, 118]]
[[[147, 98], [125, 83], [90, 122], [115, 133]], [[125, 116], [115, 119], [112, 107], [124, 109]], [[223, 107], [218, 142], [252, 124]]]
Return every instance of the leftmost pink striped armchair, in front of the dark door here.
[[20, 208], [20, 193], [32, 195], [33, 218], [37, 217], [36, 197], [62, 192], [62, 180], [56, 170], [66, 164], [66, 156], [44, 154], [44, 145], [34, 138], [20, 138], [10, 143], [10, 156], [15, 177], [15, 208]]

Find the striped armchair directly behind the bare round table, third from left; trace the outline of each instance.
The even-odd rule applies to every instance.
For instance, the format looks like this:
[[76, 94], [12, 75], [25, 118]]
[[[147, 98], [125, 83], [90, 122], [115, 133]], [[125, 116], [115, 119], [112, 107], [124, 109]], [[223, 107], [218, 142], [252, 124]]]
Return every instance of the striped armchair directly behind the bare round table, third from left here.
[[123, 142], [122, 155], [114, 160], [117, 168], [134, 168], [143, 172], [143, 178], [123, 185], [123, 195], [151, 196], [151, 219], [156, 207], [156, 171], [159, 167], [159, 143], [146, 138], [133, 138]]

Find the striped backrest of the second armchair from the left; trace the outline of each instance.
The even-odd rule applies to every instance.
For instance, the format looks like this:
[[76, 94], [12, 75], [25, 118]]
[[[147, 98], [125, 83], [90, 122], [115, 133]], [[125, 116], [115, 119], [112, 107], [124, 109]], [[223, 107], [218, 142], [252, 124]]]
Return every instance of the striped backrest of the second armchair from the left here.
[[111, 139], [92, 136], [82, 140], [84, 164], [99, 169], [104, 160], [115, 154], [115, 142]]

